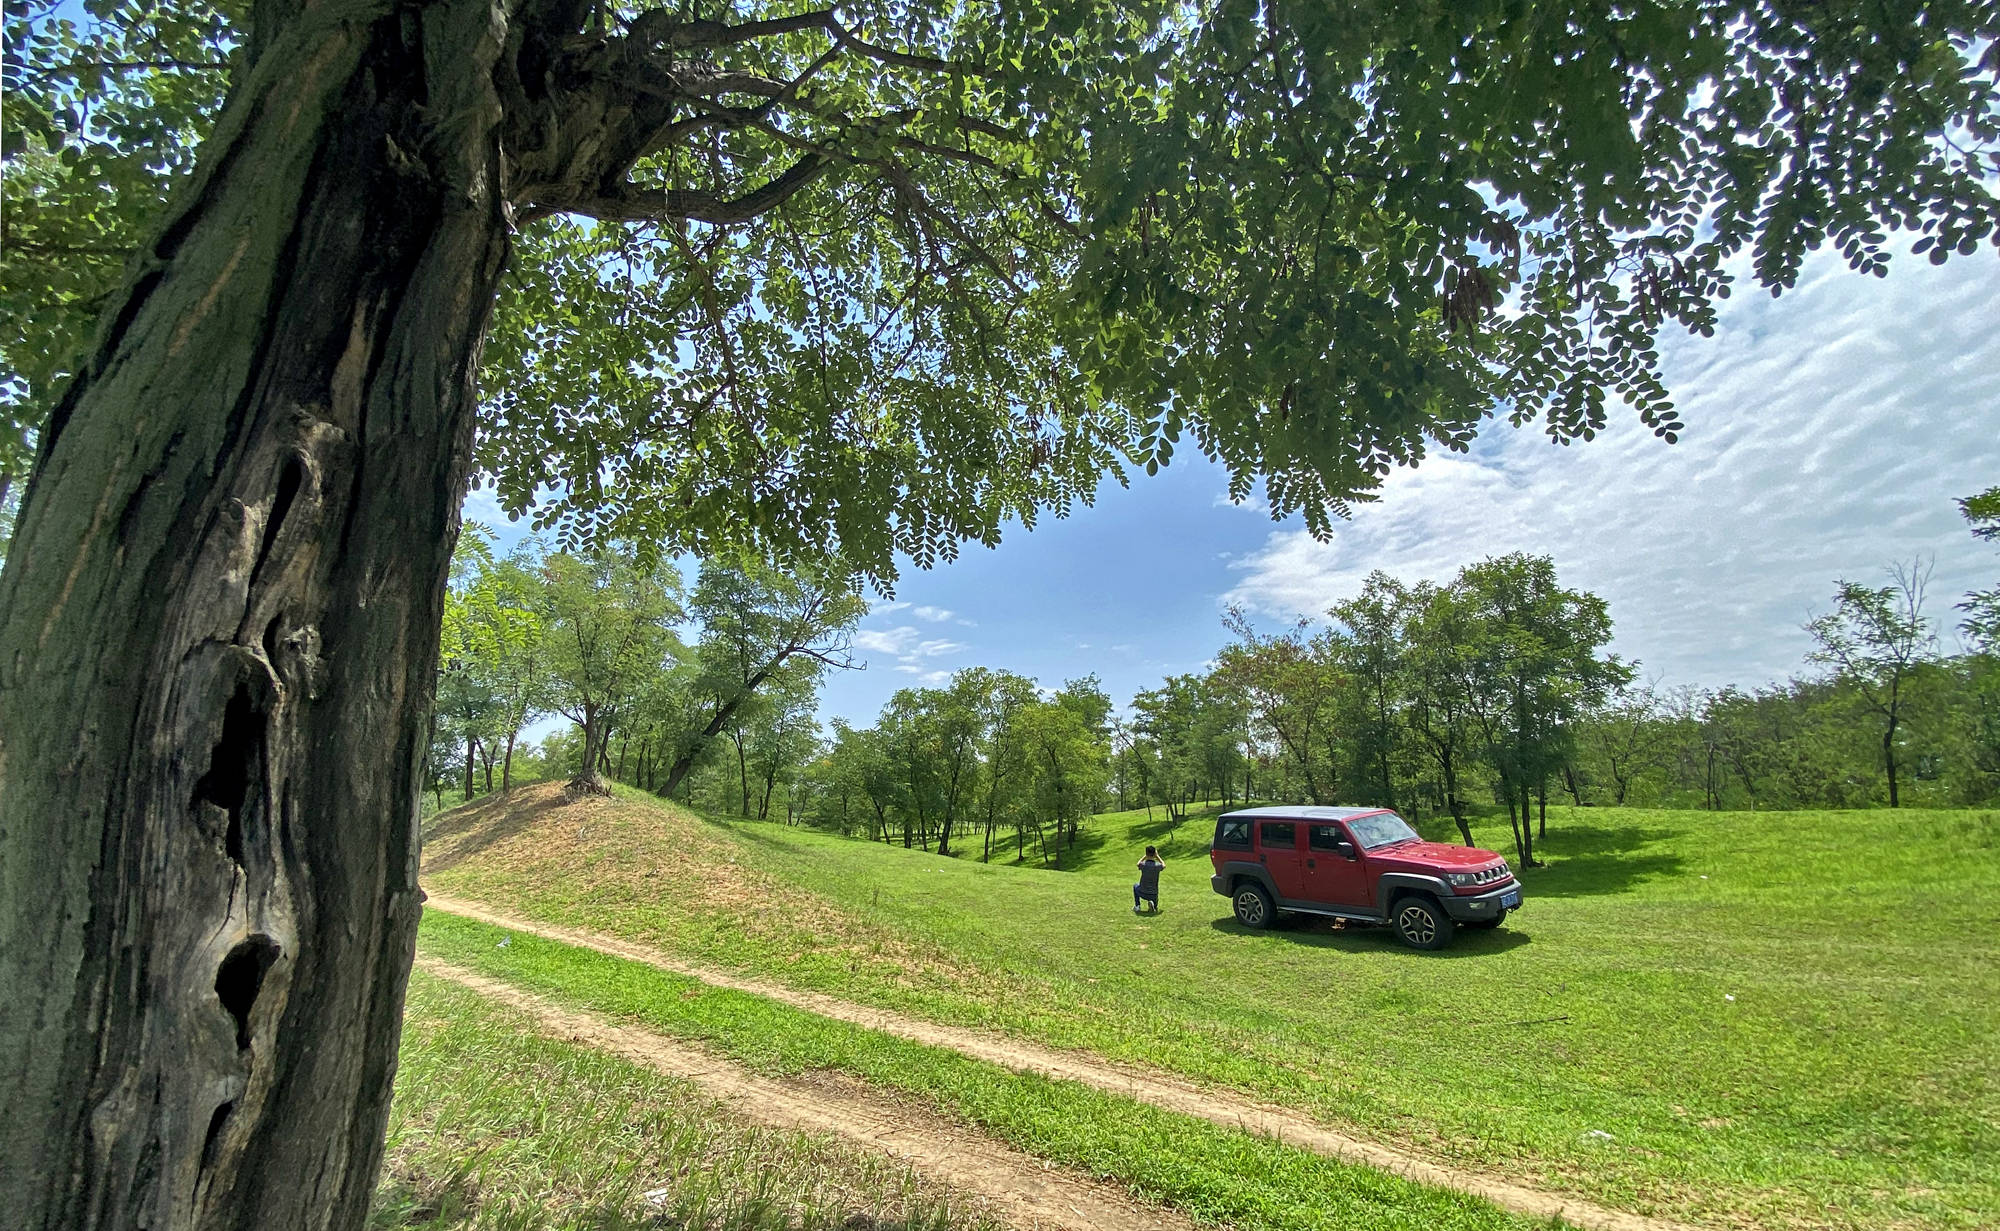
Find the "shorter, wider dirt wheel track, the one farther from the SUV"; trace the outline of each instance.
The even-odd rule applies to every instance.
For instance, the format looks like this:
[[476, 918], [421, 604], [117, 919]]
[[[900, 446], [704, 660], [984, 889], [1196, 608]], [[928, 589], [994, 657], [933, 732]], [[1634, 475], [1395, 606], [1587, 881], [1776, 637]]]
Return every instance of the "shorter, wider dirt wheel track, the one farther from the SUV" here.
[[860, 1081], [760, 1077], [682, 1039], [564, 1009], [512, 983], [488, 979], [436, 957], [418, 957], [416, 967], [470, 987], [486, 999], [522, 1009], [550, 1035], [692, 1081], [744, 1119], [778, 1129], [834, 1133], [898, 1157], [916, 1171], [976, 1197], [1022, 1231], [1056, 1227], [1194, 1231], [1194, 1223], [1168, 1209], [1142, 1205], [1112, 1185], [1078, 1179], [990, 1137], [892, 1103]]

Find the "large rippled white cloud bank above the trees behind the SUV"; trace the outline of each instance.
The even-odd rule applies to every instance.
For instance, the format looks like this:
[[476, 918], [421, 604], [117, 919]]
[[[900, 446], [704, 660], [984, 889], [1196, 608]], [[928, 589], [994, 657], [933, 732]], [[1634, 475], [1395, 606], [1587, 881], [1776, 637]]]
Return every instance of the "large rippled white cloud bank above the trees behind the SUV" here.
[[1902, 260], [1876, 282], [1818, 258], [1782, 300], [1726, 304], [1716, 338], [1666, 342], [1680, 444], [1618, 410], [1574, 448], [1494, 426], [1472, 454], [1390, 476], [1328, 544], [1272, 534], [1224, 602], [1320, 614], [1378, 568], [1446, 580], [1542, 552], [1610, 600], [1614, 647], [1648, 673], [1760, 683], [1804, 667], [1798, 625], [1836, 578], [1880, 584], [1892, 560], [1936, 556], [1930, 612], [1950, 625], [2000, 572], [1954, 502], [2000, 474], [1996, 320], [1990, 262]]

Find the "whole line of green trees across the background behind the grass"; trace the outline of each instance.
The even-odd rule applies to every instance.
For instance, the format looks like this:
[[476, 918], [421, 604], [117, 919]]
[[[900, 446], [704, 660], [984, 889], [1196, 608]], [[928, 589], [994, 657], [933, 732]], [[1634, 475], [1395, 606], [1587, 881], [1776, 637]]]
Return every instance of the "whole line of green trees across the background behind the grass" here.
[[[2000, 536], [2000, 492], [1962, 502]], [[494, 558], [460, 546], [432, 789], [516, 777], [520, 731], [572, 727], [534, 777], [604, 779], [714, 815], [784, 819], [942, 855], [1062, 865], [1090, 815], [1248, 799], [1508, 813], [1534, 861], [1548, 801], [1654, 807], [1972, 805], [2000, 797], [2000, 592], [1958, 604], [1944, 653], [1926, 570], [1838, 582], [1812, 617], [1812, 671], [1760, 689], [1664, 687], [1604, 651], [1606, 602], [1546, 556], [1500, 556], [1448, 584], [1372, 574], [1326, 621], [1258, 631], [1242, 612], [1202, 671], [1122, 713], [1096, 675], [1044, 689], [968, 667], [894, 693], [870, 727], [814, 711], [866, 610], [836, 570], [670, 566], [616, 554]]]

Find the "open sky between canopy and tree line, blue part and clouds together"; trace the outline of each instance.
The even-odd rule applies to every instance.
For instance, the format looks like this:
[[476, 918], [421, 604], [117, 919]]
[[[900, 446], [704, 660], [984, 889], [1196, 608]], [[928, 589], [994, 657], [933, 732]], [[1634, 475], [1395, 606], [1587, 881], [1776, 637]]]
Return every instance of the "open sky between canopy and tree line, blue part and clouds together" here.
[[[1898, 260], [1886, 280], [1808, 262], [1772, 300], [1740, 288], [1716, 338], [1666, 342], [1688, 430], [1630, 414], [1584, 446], [1492, 424], [1472, 454], [1390, 476], [1330, 542], [1298, 518], [1234, 508], [1192, 454], [1094, 508], [1018, 526], [996, 550], [904, 574], [856, 637], [862, 671], [826, 681], [822, 717], [872, 723], [888, 695], [966, 665], [1058, 685], [1096, 671], [1124, 703], [1226, 639], [1226, 604], [1260, 625], [1320, 616], [1370, 570], [1450, 578], [1502, 552], [1554, 556], [1610, 600], [1614, 649], [1666, 685], [1764, 683], [1804, 669], [1800, 623], [1836, 578], [1880, 584], [1934, 560], [1930, 612], [2000, 578], [1954, 498], [2000, 484], [2000, 264]], [[468, 516], [492, 522], [480, 496]], [[1946, 647], [1956, 639], [1946, 631]]]

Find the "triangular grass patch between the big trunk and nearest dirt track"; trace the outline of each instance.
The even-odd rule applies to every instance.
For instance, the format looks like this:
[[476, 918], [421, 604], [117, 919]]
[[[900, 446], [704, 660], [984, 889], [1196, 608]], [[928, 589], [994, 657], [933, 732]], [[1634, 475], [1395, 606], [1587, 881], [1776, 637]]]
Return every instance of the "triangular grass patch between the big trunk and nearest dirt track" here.
[[880, 1155], [736, 1123], [692, 1085], [410, 977], [370, 1225], [414, 1231], [998, 1231]]

